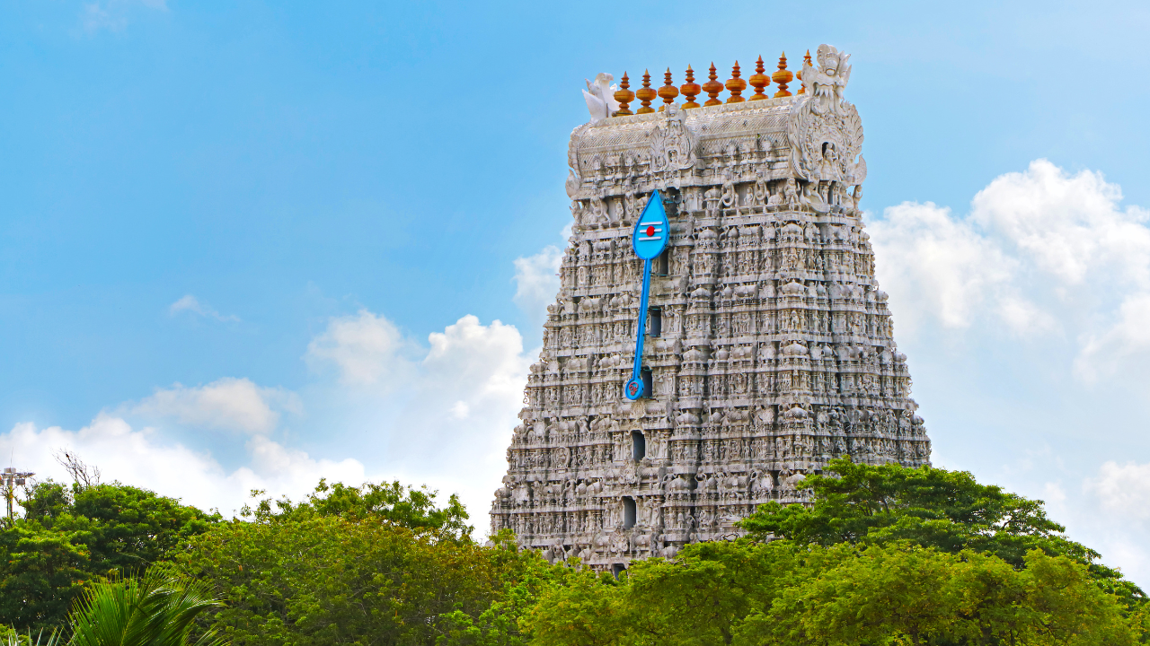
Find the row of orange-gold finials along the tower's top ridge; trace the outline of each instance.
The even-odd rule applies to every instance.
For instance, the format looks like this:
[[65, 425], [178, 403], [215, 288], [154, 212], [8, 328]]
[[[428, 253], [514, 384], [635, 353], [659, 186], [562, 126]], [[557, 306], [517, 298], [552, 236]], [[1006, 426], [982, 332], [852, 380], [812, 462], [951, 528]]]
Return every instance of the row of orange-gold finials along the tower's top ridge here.
[[[811, 64], [810, 49], [807, 49], [803, 60], [806, 61], [806, 64]], [[643, 87], [639, 87], [635, 92], [630, 91], [630, 79], [627, 78], [627, 72], [624, 71], [623, 78], [619, 83], [619, 91], [615, 92], [615, 100], [619, 101], [619, 110], [612, 114], [612, 116], [651, 114], [656, 111], [656, 109], [651, 107], [651, 101], [653, 101], [657, 97], [662, 99], [664, 102], [658, 110], [661, 113], [667, 109], [667, 106], [674, 105], [675, 98], [680, 94], [687, 98], [687, 102], [681, 106], [683, 109], [698, 108], [700, 106], [719, 106], [723, 103], [723, 101], [719, 100], [719, 94], [722, 93], [724, 87], [730, 92], [730, 97], [728, 97], [726, 101], [728, 103], [742, 103], [743, 101], [769, 99], [770, 97], [768, 97], [764, 90], [770, 85], [772, 80], [779, 87], [779, 91], [774, 94], [775, 99], [791, 95], [791, 93], [787, 91], [787, 84], [793, 80], [795, 76], [787, 69], [787, 52], [783, 52], [783, 54], [779, 56], [777, 71], [769, 76], [764, 74], [764, 71], [762, 56], [759, 56], [759, 60], [754, 63], [754, 74], [750, 78], [742, 78], [739, 76], [738, 61], [735, 61], [735, 67], [730, 70], [730, 78], [728, 78], [727, 83], [723, 84], [719, 82], [719, 77], [715, 74], [715, 64], [711, 63], [711, 79], [703, 85], [699, 85], [698, 83], [695, 83], [695, 70], [691, 69], [691, 66], [687, 66], [687, 83], [675, 87], [675, 85], [670, 82], [670, 68], [667, 68], [667, 72], [664, 75], [665, 80], [662, 87], [656, 90], [654, 87], [651, 87], [651, 75], [644, 70]], [[803, 80], [802, 71], [798, 72], [798, 79]], [[743, 91], [746, 90], [747, 84], [754, 89], [754, 94], [744, 99]], [[695, 102], [695, 98], [704, 93], [708, 97], [707, 101], [702, 105]], [[805, 94], [806, 87], [799, 87], [798, 93]], [[632, 113], [628, 105], [636, 98], [643, 103], [643, 107]]]

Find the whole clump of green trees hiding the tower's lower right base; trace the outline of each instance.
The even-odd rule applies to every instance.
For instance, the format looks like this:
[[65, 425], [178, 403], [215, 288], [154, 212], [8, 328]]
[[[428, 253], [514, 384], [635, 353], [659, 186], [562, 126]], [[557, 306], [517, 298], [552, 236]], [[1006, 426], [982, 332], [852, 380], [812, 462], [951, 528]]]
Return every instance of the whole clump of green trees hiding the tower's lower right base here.
[[765, 506], [743, 539], [632, 562], [618, 582], [553, 577], [523, 626], [546, 646], [1145, 641], [1141, 591], [1041, 501], [942, 469], [830, 467], [839, 477], [808, 479], [810, 507]]

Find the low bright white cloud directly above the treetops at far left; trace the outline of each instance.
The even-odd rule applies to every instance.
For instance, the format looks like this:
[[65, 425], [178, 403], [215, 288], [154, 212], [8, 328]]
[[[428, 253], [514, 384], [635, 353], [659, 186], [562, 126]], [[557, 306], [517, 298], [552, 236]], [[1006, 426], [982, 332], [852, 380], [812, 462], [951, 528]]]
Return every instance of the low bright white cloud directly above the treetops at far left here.
[[204, 509], [218, 507], [224, 514], [237, 512], [253, 489], [298, 500], [321, 477], [346, 483], [366, 479], [356, 460], [314, 460], [259, 436], [250, 439], [246, 448], [250, 464], [228, 472], [207, 454], [166, 444], [151, 429], [132, 430], [123, 418], [103, 414], [78, 431], [22, 423], [0, 434], [0, 451], [12, 452], [21, 468], [34, 471], [38, 479], [68, 482], [53, 457], [67, 449], [98, 466], [103, 482], [151, 489]]

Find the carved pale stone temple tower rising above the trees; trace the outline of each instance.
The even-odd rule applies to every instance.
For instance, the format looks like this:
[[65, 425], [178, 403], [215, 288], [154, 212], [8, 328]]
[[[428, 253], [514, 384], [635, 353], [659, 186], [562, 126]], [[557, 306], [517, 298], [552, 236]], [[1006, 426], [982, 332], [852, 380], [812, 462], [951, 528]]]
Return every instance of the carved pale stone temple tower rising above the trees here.
[[[588, 83], [572, 132], [573, 236], [496, 492], [491, 529], [597, 569], [735, 537], [828, 460], [928, 463], [859, 198], [862, 124], [843, 97], [849, 56], [823, 45], [792, 95], [767, 76], [631, 92]], [[770, 82], [773, 97], [764, 93]], [[747, 82], [754, 95], [743, 98]], [[687, 99], [674, 100], [680, 92]], [[695, 97], [711, 100], [700, 106]], [[631, 114], [636, 98], [643, 107]], [[649, 105], [664, 100], [658, 111]], [[619, 102], [616, 102], [619, 101]], [[636, 217], [659, 190], [670, 222], [653, 261], [629, 401], [643, 261]], [[650, 234], [650, 233], [649, 233]]]

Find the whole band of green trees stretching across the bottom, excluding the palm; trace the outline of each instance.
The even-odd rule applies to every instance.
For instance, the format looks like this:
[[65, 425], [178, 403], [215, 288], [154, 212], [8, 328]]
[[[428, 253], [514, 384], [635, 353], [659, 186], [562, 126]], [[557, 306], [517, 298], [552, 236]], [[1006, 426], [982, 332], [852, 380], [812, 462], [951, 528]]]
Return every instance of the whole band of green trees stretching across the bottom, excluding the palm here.
[[454, 497], [440, 507], [399, 483], [321, 482], [230, 521], [124, 485], [45, 483], [0, 538], [0, 621], [72, 636], [77, 593], [89, 601], [74, 620], [92, 591], [133, 590], [116, 572], [160, 562], [140, 580], [179, 572], [204, 601], [192, 636], [236, 645], [1150, 641], [1142, 591], [1063, 536], [1041, 501], [965, 472], [849, 461], [802, 486], [810, 506], [765, 505], [747, 537], [616, 579], [551, 566], [509, 533], [480, 545]]

